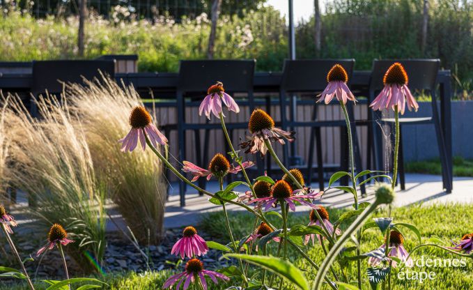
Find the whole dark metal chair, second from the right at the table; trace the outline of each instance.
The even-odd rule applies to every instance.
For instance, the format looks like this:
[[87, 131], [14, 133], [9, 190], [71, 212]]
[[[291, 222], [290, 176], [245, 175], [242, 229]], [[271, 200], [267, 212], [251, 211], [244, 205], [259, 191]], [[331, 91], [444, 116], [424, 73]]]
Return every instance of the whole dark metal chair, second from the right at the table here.
[[[303, 169], [307, 173], [309, 183], [311, 183], [313, 174], [313, 146], [316, 142], [317, 150], [317, 171], [318, 183], [320, 190], [324, 189], [324, 164], [322, 156], [322, 142], [320, 137], [320, 128], [323, 127], [339, 127], [341, 128], [341, 168], [348, 170], [348, 142], [346, 138], [346, 123], [345, 120], [336, 121], [320, 121], [317, 116], [317, 107], [315, 105], [315, 96], [322, 92], [327, 86], [327, 73], [330, 68], [336, 63], [339, 63], [345, 68], [348, 79], [351, 78], [354, 59], [314, 59], [314, 60], [296, 60], [284, 62], [283, 76], [281, 79], [281, 91], [279, 93], [279, 103], [281, 105], [281, 125], [283, 128], [290, 128], [294, 130], [297, 127], [311, 128], [309, 156], [307, 158], [307, 168]], [[349, 86], [350, 84], [348, 84]], [[309, 93], [308, 100], [297, 100], [295, 93]], [[289, 101], [287, 100], [289, 98]], [[332, 101], [336, 103], [336, 100]], [[312, 110], [311, 121], [297, 121], [297, 105], [314, 105]], [[289, 107], [289, 117], [286, 116], [286, 109]], [[350, 120], [354, 121], [354, 113], [352, 104], [348, 102], [348, 114]], [[355, 150], [355, 167], [357, 171], [361, 171], [362, 160], [359, 154], [359, 145], [357, 138], [357, 130], [355, 123], [352, 123], [353, 143]], [[343, 134], [345, 132], [345, 134]], [[296, 141], [297, 142], [297, 141]], [[293, 142], [294, 143], [294, 142]], [[284, 148], [284, 164], [290, 167], [300, 167], [302, 169], [302, 162], [297, 162], [295, 144], [290, 144], [290, 154], [288, 153], [288, 146]], [[289, 156], [290, 155], [290, 156]], [[290, 158], [292, 160], [289, 160]], [[299, 158], [300, 159], [300, 158]], [[364, 193], [364, 187], [362, 187]]]

